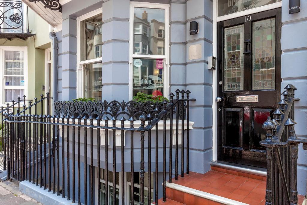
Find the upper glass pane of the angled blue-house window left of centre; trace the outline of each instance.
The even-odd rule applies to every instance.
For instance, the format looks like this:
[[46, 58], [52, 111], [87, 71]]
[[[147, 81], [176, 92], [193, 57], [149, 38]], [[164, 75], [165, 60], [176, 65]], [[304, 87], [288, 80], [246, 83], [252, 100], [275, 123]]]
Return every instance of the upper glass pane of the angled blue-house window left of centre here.
[[[102, 57], [102, 14], [81, 22], [81, 61]], [[99, 46], [99, 53], [96, 48]]]

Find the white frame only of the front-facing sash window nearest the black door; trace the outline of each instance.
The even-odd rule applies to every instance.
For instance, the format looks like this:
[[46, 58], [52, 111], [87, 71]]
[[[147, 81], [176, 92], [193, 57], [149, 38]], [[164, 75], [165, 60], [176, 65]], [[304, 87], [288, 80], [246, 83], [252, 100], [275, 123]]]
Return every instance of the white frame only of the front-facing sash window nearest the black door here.
[[[165, 22], [165, 40], [164, 40], [164, 55], [141, 55], [134, 53], [134, 7], [164, 9]], [[130, 64], [130, 78], [129, 78], [129, 99], [133, 98], [133, 58], [140, 59], [163, 59], [163, 96], [168, 98], [169, 95], [169, 4], [148, 3], [148, 2], [130, 2], [130, 40], [129, 40], [129, 64]], [[141, 30], [142, 32], [142, 30]], [[143, 33], [143, 32], [142, 32]], [[148, 33], [148, 35], [150, 35]], [[141, 45], [140, 45], [141, 46]], [[142, 47], [140, 47], [142, 49]], [[141, 50], [142, 52], [142, 50]]]

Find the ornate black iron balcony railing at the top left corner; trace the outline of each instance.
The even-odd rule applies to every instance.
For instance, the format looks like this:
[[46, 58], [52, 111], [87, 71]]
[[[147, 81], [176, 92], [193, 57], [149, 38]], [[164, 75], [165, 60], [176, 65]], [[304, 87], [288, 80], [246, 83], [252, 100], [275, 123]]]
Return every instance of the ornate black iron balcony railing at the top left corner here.
[[0, 33], [24, 33], [21, 1], [0, 0]]

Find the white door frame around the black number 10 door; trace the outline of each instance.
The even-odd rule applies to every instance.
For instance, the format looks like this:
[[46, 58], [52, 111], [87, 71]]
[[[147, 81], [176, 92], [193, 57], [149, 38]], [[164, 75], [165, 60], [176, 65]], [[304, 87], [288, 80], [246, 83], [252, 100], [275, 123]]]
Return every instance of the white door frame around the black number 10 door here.
[[[253, 8], [253, 9], [249, 9], [249, 10], [245, 10], [245, 11], [240, 11], [234, 14], [228, 14], [222, 17], [218, 17], [218, 0], [213, 0], [213, 56], [217, 56], [218, 52], [217, 52], [217, 43], [218, 43], [218, 39], [217, 39], [217, 24], [220, 21], [224, 21], [224, 20], [228, 20], [231, 18], [237, 18], [237, 17], [241, 17], [241, 16], [245, 16], [248, 14], [254, 14], [254, 13], [258, 13], [261, 11], [266, 11], [266, 10], [271, 10], [271, 9], [275, 9], [275, 8], [281, 8], [282, 7], [282, 2], [277, 2], [277, 3], [273, 3], [270, 5], [266, 5], [266, 6], [260, 6], [257, 8]], [[218, 153], [218, 132], [217, 132], [217, 114], [218, 114], [218, 107], [217, 107], [217, 102], [215, 101], [216, 97], [218, 97], [218, 93], [217, 93], [217, 77], [218, 77], [218, 72], [217, 71], [213, 71], [212, 73], [212, 78], [213, 78], [213, 83], [212, 83], [212, 90], [213, 90], [213, 95], [212, 95], [212, 136], [213, 136], [213, 141], [212, 141], [212, 161], [216, 161], [217, 160], [217, 153]]]

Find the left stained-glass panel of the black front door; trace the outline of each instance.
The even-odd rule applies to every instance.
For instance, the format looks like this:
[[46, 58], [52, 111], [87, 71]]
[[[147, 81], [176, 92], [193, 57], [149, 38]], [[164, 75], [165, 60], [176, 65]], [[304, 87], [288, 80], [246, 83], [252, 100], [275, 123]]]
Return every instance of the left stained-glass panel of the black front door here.
[[224, 29], [224, 90], [243, 90], [244, 26]]

